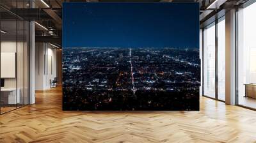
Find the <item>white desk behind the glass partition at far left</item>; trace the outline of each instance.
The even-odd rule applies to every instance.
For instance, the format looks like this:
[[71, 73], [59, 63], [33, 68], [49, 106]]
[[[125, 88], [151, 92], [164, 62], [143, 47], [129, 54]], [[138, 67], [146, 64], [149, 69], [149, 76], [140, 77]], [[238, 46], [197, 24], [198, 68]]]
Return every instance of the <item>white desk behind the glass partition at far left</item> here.
[[4, 88], [1, 89], [1, 102], [4, 104], [17, 104], [20, 103], [20, 89], [17, 89], [18, 93], [16, 96], [16, 88]]

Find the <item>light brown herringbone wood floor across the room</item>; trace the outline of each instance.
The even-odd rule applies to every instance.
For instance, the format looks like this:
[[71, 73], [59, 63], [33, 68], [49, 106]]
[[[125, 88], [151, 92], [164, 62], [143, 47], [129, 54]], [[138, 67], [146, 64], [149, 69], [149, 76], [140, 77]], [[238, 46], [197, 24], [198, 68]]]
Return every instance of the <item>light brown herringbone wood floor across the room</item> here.
[[200, 112], [63, 112], [61, 88], [0, 116], [0, 142], [256, 142], [256, 112], [200, 99]]

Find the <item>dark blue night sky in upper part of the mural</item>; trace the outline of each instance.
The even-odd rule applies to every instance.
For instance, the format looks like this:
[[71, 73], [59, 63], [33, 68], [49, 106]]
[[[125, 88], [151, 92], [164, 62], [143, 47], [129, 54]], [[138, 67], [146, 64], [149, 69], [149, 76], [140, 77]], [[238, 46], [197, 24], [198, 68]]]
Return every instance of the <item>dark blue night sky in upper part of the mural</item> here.
[[64, 3], [63, 47], [199, 47], [199, 6]]

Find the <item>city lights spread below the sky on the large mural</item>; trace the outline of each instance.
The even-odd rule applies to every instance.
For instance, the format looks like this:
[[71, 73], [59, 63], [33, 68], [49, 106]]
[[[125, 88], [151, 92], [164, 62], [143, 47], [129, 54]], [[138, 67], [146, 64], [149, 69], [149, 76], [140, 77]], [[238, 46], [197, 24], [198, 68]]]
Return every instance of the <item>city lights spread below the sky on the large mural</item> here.
[[199, 110], [198, 57], [198, 49], [65, 49], [63, 109]]

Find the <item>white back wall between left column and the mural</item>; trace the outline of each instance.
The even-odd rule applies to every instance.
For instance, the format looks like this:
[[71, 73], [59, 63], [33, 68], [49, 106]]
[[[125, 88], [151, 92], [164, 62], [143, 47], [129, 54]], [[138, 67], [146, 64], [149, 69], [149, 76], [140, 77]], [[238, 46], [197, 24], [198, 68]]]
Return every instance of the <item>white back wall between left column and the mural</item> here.
[[36, 43], [35, 54], [35, 89], [49, 89], [56, 77], [56, 49], [49, 43]]

